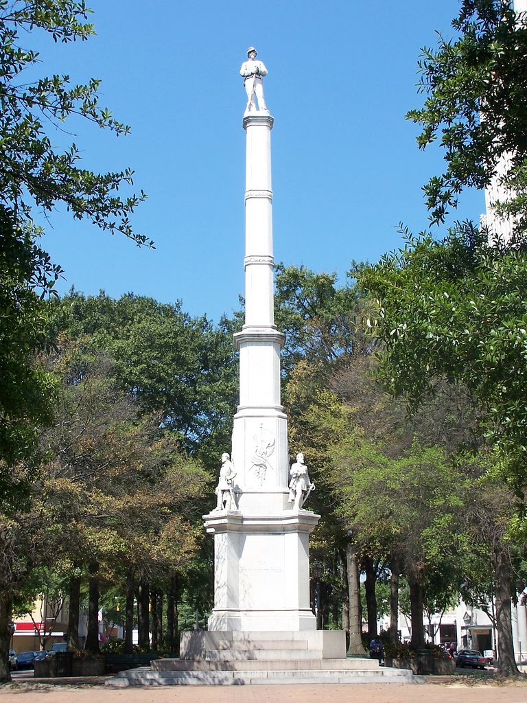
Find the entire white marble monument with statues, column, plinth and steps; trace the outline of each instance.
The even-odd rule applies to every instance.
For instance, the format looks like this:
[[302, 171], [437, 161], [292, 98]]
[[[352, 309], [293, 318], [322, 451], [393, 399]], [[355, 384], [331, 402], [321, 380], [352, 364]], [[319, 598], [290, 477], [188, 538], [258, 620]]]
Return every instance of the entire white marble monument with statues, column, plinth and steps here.
[[382, 669], [380, 676], [376, 659], [346, 659], [344, 632], [317, 630], [309, 607], [308, 538], [320, 515], [304, 509], [315, 486], [301, 452], [289, 470], [287, 419], [280, 404], [284, 337], [273, 319], [273, 117], [263, 103], [261, 77], [267, 70], [256, 62], [253, 47], [247, 55], [240, 72], [254, 80], [245, 82], [243, 118], [245, 325], [235, 335], [240, 404], [232, 454], [221, 456], [216, 505], [203, 516], [214, 536], [214, 610], [207, 631], [181, 633], [179, 659], [158, 659], [151, 670], [124, 671], [108, 683], [403, 681], [410, 671]]

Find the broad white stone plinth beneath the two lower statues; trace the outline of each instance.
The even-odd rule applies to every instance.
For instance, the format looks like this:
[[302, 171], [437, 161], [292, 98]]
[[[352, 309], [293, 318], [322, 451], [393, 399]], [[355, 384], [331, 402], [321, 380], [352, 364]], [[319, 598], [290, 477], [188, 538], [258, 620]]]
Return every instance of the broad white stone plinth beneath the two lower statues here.
[[214, 535], [214, 610], [210, 631], [313, 631], [309, 534], [319, 515], [284, 510], [204, 515]]

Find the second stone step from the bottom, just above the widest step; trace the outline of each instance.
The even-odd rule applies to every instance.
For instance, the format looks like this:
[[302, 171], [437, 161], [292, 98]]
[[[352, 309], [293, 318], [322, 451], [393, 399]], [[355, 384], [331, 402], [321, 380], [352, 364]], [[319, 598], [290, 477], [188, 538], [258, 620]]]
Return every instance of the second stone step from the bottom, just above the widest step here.
[[155, 659], [152, 671], [378, 671], [377, 659]]

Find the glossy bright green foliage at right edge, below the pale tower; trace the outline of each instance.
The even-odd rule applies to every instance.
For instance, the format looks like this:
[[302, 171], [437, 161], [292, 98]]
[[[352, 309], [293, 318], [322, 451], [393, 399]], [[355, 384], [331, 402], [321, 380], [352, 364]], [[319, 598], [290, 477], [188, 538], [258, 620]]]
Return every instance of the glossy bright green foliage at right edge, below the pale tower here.
[[441, 241], [408, 235], [403, 249], [358, 271], [375, 295], [390, 392], [417, 408], [443, 380], [469, 392], [480, 437], [499, 453], [519, 496], [527, 479], [527, 252], [488, 245], [468, 224]]

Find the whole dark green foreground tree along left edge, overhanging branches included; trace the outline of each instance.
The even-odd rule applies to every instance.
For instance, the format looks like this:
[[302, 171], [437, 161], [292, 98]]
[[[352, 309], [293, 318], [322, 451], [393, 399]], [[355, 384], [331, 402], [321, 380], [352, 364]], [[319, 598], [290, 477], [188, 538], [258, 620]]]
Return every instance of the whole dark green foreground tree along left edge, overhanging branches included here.
[[44, 349], [46, 314], [32, 291], [43, 296], [53, 292], [61, 269], [38, 243], [42, 231], [32, 221], [35, 207], [48, 214], [63, 204], [74, 219], [89, 219], [138, 245], [151, 245], [129, 221], [144, 194], [122, 195], [129, 191], [133, 172], [91, 172], [82, 168], [81, 150], [75, 144], [62, 151], [53, 146], [57, 127], [68, 117], [84, 118], [116, 135], [129, 131], [100, 107], [100, 81], [74, 85], [66, 75], [33, 78], [39, 53], [27, 45], [34, 32], [41, 30], [63, 44], [84, 41], [94, 34], [93, 25], [85, 21], [89, 12], [84, 1], [0, 0], [2, 498], [10, 490], [9, 466], [34, 453], [36, 427], [50, 421], [53, 405], [51, 377], [32, 363], [32, 356]]

